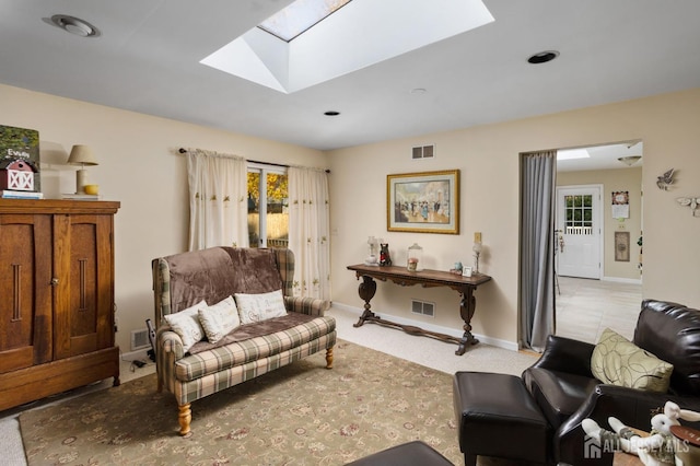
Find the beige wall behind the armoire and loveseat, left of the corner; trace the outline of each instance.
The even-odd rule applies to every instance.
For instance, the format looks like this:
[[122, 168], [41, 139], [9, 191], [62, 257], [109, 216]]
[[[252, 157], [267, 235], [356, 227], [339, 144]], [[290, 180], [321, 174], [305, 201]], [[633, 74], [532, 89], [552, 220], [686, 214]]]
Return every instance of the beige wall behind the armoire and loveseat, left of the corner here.
[[187, 248], [186, 163], [177, 149], [201, 148], [252, 160], [325, 166], [319, 151], [164, 118], [0, 85], [0, 125], [39, 131], [42, 188], [47, 197], [75, 190], [75, 167], [66, 165], [73, 144], [93, 148], [100, 165], [91, 182], [115, 218], [117, 343], [130, 351], [131, 330], [153, 315], [151, 259]]

